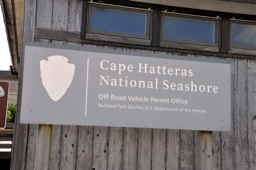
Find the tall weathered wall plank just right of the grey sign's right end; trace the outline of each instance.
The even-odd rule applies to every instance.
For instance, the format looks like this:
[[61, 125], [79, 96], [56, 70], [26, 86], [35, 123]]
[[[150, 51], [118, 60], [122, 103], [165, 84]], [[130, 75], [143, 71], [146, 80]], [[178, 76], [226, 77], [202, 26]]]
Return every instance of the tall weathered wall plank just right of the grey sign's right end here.
[[238, 60], [235, 84], [235, 167], [248, 169], [247, 60]]

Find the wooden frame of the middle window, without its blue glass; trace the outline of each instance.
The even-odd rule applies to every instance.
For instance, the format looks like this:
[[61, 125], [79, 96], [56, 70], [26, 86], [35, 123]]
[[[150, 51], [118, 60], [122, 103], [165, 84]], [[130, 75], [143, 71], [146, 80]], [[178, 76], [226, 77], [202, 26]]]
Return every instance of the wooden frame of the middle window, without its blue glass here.
[[[175, 38], [166, 38], [164, 37], [164, 16], [172, 16], [172, 17], [181, 17], [181, 18], [189, 18], [189, 19], [199, 19], [199, 20], [209, 20], [215, 21], [215, 43], [204, 42], [204, 41], [195, 41], [195, 40], [182, 40]], [[173, 43], [186, 43], [186, 44], [196, 44], [196, 45], [207, 45], [207, 46], [218, 46], [220, 44], [220, 28], [221, 28], [221, 18], [220, 17], [207, 17], [200, 15], [192, 15], [192, 14], [181, 14], [175, 12], [165, 12], [162, 11], [162, 23], [161, 23], [161, 41], [173, 42]], [[166, 43], [163, 43], [166, 44]], [[189, 46], [189, 45], [188, 45]]]

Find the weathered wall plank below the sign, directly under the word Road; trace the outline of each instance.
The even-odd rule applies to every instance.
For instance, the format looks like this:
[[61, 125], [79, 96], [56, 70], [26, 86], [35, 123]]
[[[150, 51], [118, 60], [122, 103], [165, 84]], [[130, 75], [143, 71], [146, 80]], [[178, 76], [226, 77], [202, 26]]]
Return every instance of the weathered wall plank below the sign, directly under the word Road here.
[[122, 170], [123, 127], [109, 127], [108, 170]]

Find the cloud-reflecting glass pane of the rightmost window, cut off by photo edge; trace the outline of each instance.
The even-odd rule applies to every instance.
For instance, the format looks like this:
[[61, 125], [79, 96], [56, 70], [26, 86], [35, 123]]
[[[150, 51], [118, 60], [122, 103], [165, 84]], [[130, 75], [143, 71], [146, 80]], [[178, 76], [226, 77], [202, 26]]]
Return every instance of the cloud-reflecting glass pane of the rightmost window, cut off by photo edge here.
[[256, 26], [232, 23], [232, 44], [256, 46]]

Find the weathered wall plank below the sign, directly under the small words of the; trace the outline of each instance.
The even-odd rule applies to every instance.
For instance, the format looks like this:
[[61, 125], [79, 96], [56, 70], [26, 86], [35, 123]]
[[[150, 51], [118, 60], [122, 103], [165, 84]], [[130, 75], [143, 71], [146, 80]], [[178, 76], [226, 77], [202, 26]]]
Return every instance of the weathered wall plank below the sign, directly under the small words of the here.
[[180, 130], [180, 170], [194, 169], [194, 131]]

